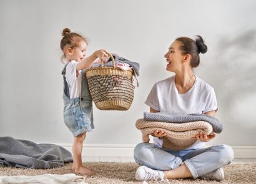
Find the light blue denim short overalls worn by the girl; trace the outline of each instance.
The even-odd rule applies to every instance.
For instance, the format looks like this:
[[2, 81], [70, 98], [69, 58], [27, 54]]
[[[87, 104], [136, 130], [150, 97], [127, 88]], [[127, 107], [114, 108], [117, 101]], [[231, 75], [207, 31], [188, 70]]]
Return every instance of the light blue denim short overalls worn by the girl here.
[[[67, 63], [68, 64], [68, 63]], [[73, 99], [69, 98], [69, 85], [66, 80], [66, 67], [62, 70], [64, 88], [64, 122], [67, 128], [73, 133], [74, 137], [84, 132], [91, 132], [94, 128], [93, 113], [92, 113], [92, 99], [89, 92], [85, 71], [82, 70], [82, 91], [81, 97]]]

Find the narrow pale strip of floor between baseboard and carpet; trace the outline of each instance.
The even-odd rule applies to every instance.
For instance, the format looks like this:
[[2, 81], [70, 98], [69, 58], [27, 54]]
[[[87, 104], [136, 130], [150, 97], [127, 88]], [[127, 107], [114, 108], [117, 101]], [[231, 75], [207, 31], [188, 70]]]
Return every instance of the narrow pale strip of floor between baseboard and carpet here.
[[[134, 162], [133, 157], [82, 157], [83, 162]], [[256, 163], [256, 158], [235, 158], [232, 163]]]

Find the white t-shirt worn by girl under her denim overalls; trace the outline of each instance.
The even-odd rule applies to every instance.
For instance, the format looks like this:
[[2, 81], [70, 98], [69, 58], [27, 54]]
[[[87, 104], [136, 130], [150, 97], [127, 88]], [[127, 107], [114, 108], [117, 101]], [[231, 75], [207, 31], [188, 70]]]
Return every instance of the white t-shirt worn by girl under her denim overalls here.
[[[82, 75], [81, 71], [76, 70], [76, 65], [79, 62], [72, 60], [67, 64], [66, 67], [66, 80], [69, 85], [69, 98], [73, 99], [81, 96], [81, 88], [82, 88]], [[76, 72], [78, 72], [78, 77], [76, 77]]]

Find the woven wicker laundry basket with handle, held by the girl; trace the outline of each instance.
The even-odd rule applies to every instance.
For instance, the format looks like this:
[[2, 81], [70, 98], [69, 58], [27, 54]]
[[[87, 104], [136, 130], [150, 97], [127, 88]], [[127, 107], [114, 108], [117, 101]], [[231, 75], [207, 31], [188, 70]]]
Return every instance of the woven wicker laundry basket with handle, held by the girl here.
[[133, 70], [115, 67], [114, 57], [107, 54], [112, 59], [111, 67], [102, 62], [100, 67], [86, 70], [92, 100], [100, 110], [128, 110], [134, 99]]

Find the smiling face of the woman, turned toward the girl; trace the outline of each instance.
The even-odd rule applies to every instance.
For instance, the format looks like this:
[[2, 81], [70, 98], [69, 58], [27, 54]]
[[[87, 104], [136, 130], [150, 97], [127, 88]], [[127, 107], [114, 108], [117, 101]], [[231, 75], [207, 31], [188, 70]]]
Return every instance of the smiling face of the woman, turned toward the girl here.
[[182, 55], [182, 51], [180, 51], [180, 42], [174, 41], [169, 47], [168, 52], [164, 55], [166, 58], [166, 70], [170, 72], [177, 72], [182, 67], [182, 60], [184, 56]]

